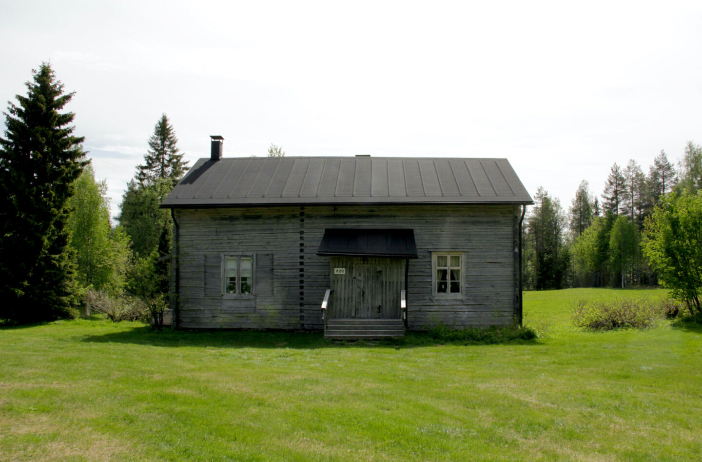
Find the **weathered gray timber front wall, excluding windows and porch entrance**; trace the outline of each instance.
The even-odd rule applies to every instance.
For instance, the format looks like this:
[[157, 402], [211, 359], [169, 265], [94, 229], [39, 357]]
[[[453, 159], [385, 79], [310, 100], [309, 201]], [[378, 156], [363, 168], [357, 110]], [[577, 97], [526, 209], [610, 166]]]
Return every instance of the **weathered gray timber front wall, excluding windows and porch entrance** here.
[[[514, 205], [282, 206], [176, 209], [181, 327], [322, 329], [326, 227], [412, 228], [409, 329], [511, 324], [519, 302]], [[460, 251], [463, 292], [432, 291], [432, 252]], [[252, 296], [222, 296], [223, 254], [254, 255]]]

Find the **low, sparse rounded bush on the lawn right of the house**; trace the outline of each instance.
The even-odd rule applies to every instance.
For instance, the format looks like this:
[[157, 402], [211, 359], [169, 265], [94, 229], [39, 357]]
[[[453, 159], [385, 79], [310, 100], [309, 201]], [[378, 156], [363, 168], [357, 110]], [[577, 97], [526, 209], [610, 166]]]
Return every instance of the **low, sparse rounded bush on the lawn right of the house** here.
[[580, 302], [573, 314], [573, 324], [603, 331], [643, 329], [654, 326], [663, 317], [666, 303], [637, 298]]

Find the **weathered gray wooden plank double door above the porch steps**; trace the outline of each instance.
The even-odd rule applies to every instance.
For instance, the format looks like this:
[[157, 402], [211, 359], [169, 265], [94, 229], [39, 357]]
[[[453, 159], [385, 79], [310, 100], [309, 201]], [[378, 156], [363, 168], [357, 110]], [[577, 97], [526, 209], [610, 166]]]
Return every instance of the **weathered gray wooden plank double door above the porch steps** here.
[[329, 317], [400, 319], [401, 258], [331, 258]]

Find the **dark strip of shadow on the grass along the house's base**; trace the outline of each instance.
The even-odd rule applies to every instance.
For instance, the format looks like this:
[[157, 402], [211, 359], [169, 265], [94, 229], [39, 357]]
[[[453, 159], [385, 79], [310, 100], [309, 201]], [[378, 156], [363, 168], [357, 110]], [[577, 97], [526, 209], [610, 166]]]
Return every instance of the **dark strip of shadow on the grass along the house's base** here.
[[402, 338], [385, 338], [378, 341], [329, 341], [322, 331], [180, 331], [166, 329], [154, 331], [150, 326], [135, 327], [128, 331], [86, 336], [84, 342], [133, 343], [157, 347], [201, 347], [201, 348], [420, 348], [436, 345], [539, 345], [537, 339], [505, 341], [457, 341], [436, 338], [428, 332], [409, 332]]

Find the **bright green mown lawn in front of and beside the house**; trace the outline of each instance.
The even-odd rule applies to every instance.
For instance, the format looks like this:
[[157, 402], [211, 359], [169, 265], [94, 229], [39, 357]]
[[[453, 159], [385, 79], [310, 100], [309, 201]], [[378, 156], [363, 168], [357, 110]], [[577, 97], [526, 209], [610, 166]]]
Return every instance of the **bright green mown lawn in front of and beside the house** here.
[[691, 461], [702, 329], [574, 329], [525, 294], [536, 341], [325, 343], [98, 320], [0, 329], [0, 461]]

